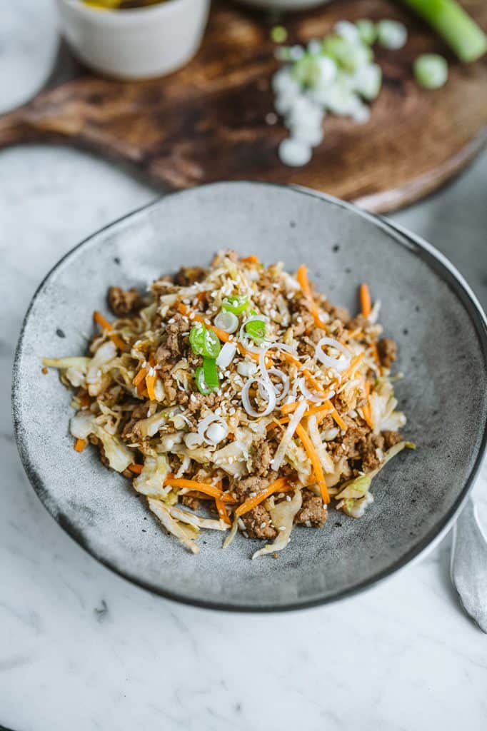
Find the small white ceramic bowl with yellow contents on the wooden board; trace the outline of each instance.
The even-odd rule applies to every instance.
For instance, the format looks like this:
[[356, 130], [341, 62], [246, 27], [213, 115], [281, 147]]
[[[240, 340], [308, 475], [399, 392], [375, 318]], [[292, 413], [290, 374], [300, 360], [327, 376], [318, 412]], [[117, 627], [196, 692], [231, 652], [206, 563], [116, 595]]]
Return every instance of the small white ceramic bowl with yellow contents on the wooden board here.
[[143, 79], [175, 71], [195, 55], [210, 0], [167, 0], [137, 10], [96, 10], [57, 0], [75, 56], [102, 74]]

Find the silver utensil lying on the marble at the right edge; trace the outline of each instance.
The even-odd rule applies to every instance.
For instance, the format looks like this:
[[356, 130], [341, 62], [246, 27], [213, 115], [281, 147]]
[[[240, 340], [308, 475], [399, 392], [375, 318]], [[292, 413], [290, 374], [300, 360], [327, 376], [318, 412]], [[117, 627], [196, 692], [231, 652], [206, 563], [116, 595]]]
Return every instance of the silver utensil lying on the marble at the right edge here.
[[487, 634], [487, 539], [472, 498], [453, 527], [450, 576], [464, 610]]

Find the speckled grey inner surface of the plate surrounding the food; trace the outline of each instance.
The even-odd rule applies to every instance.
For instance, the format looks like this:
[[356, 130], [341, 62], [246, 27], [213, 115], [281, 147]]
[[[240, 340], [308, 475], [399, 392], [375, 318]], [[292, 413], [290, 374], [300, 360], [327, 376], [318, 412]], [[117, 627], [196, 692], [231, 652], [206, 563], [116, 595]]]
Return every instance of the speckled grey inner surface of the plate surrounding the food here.
[[[374, 481], [361, 520], [331, 512], [325, 529], [296, 529], [278, 560], [250, 561], [255, 542], [220, 550], [208, 534], [192, 556], [168, 537], [124, 478], [68, 434], [70, 396], [43, 355], [83, 352], [107, 285], [145, 287], [180, 265], [206, 265], [233, 246], [295, 270], [306, 262], [331, 300], [355, 310], [360, 281], [382, 300], [400, 346], [397, 387], [415, 452]], [[80, 298], [83, 292], [84, 300]], [[59, 337], [62, 331], [65, 337]], [[486, 439], [486, 325], [451, 265], [426, 243], [351, 205], [263, 183], [216, 183], [172, 194], [67, 254], [32, 300], [15, 359], [13, 407], [23, 464], [39, 497], [86, 550], [159, 594], [206, 607], [278, 610], [328, 602], [404, 566], [451, 523]]]

